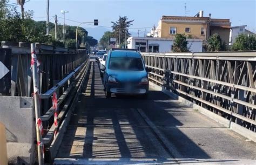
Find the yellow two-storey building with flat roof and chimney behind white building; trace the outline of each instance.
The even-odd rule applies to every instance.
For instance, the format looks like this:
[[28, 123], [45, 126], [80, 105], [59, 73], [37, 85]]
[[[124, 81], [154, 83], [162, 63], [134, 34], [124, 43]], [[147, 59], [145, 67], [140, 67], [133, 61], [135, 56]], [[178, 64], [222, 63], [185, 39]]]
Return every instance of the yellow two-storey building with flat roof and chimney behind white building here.
[[228, 44], [231, 22], [230, 19], [212, 19], [203, 17], [203, 11], [195, 17], [162, 16], [154, 37], [175, 38], [177, 33], [189, 35], [192, 38], [208, 39], [214, 33], [218, 33], [221, 39]]

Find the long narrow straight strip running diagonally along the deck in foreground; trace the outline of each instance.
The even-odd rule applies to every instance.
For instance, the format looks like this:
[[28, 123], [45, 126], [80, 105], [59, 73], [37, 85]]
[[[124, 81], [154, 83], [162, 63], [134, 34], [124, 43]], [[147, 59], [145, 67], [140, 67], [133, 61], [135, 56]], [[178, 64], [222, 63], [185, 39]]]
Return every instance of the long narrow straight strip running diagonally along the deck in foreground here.
[[[140, 108], [136, 108], [136, 109], [139, 112], [139, 114], [142, 116], [142, 118], [146, 121], [147, 125], [149, 125], [152, 128], [153, 132], [158, 136], [158, 139], [160, 139], [160, 141], [165, 145], [165, 148], [174, 157], [174, 159], [176, 160], [176, 158], [183, 157], [178, 153], [177, 148], [174, 145], [172, 145], [172, 143], [169, 142], [169, 140], [165, 138], [165, 136], [160, 132], [159, 129], [157, 129], [154, 123], [149, 118], [147, 118], [146, 114], [142, 111], [142, 109]], [[178, 160], [176, 161], [178, 162]]]

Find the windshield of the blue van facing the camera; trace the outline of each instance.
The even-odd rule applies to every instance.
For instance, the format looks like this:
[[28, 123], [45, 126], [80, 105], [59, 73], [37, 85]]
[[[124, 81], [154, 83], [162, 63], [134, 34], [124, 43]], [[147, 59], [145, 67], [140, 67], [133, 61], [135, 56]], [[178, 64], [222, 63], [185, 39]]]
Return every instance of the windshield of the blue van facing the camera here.
[[111, 57], [109, 68], [110, 70], [144, 70], [142, 59], [132, 57]]

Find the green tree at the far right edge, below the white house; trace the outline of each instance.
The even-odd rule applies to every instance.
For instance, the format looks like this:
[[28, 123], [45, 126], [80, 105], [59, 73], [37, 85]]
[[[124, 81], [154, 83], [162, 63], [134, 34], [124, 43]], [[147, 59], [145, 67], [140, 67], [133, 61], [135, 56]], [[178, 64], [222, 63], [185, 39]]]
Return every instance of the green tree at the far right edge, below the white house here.
[[255, 35], [240, 34], [235, 38], [235, 42], [231, 49], [233, 51], [256, 50]]

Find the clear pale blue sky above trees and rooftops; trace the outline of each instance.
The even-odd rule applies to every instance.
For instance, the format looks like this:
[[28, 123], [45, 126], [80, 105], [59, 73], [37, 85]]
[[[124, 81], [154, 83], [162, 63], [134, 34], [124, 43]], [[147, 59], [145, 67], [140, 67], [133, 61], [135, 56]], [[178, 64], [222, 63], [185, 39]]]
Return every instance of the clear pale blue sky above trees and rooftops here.
[[[25, 10], [33, 10], [33, 19], [46, 20], [47, 0], [26, 0]], [[9, 3], [16, 3], [10, 0]], [[137, 33], [149, 32], [153, 25], [158, 24], [161, 16], [194, 16], [199, 10], [204, 16], [211, 13], [212, 18], [227, 18], [232, 26], [247, 25], [248, 30], [256, 32], [256, 0], [50, 0], [50, 22], [57, 15], [59, 23], [63, 24], [61, 10], [66, 13], [66, 24], [78, 25], [78, 22], [92, 22], [99, 20], [99, 27], [111, 30], [111, 21], [119, 16], [127, 16], [133, 20], [130, 31]], [[71, 21], [73, 20], [73, 21]], [[75, 21], [75, 22], [74, 22]], [[104, 26], [104, 28], [103, 28]], [[93, 25], [82, 25], [83, 28], [92, 29]], [[132, 29], [134, 28], [134, 29]], [[137, 29], [140, 28], [140, 29]], [[95, 35], [95, 32], [93, 32]], [[90, 31], [89, 31], [90, 35]], [[99, 39], [99, 38], [96, 38]]]

